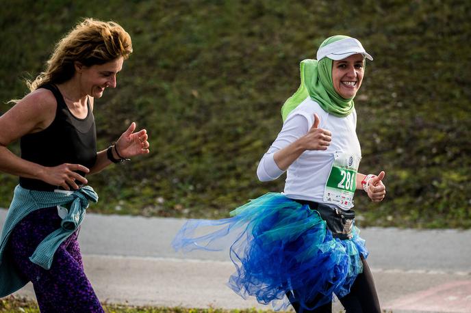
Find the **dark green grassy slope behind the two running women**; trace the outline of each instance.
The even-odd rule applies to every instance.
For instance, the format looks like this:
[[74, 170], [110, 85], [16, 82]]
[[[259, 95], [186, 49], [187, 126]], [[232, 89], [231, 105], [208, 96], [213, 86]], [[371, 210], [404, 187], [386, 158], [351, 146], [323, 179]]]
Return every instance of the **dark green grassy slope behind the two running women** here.
[[[64, 4], [65, 3], [65, 4]], [[99, 146], [129, 121], [151, 154], [89, 178], [99, 213], [226, 217], [284, 178], [255, 170], [281, 128], [298, 64], [346, 34], [373, 55], [355, 107], [360, 172], [385, 170], [387, 198], [357, 195], [361, 226], [471, 226], [469, 1], [3, 1], [0, 113], [27, 92], [80, 18], [117, 21], [133, 38], [116, 90], [97, 100]], [[30, 76], [28, 76], [30, 75]], [[11, 147], [18, 152], [18, 145]], [[0, 206], [16, 178], [0, 174]]]

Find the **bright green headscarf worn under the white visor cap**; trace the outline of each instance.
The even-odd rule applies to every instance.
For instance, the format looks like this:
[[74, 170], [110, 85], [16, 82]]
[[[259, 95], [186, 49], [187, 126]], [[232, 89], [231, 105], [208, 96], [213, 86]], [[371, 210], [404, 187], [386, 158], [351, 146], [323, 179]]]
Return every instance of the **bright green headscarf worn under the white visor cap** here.
[[[345, 38], [350, 37], [342, 35], [332, 36], [324, 40], [319, 48]], [[311, 99], [316, 100], [324, 111], [335, 116], [344, 117], [353, 111], [355, 107], [353, 98], [345, 99], [335, 92], [332, 83], [332, 62], [328, 57], [323, 57], [320, 61], [305, 59], [301, 62], [299, 66], [301, 70], [301, 85], [281, 107], [283, 122], [291, 111], [303, 102], [308, 95]]]

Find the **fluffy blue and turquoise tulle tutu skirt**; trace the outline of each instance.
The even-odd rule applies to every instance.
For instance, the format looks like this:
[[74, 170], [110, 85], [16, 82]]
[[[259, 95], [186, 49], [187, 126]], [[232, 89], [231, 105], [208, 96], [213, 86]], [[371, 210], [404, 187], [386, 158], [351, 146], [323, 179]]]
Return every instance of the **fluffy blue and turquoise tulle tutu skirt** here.
[[[281, 193], [251, 200], [231, 216], [190, 219], [172, 245], [183, 251], [230, 245], [237, 271], [228, 286], [244, 299], [253, 296], [259, 303], [271, 303], [275, 310], [286, 309], [290, 301], [312, 310], [332, 301], [334, 293], [344, 297], [363, 270], [360, 256], [368, 256], [357, 228], [353, 239], [333, 238], [315, 210]], [[209, 233], [196, 234], [205, 227]]]

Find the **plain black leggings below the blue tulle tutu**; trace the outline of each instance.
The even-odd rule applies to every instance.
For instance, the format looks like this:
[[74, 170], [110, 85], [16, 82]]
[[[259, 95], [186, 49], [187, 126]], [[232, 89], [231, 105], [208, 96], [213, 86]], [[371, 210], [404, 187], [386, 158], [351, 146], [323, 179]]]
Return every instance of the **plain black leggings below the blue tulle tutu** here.
[[[346, 313], [381, 313], [370, 267], [368, 267], [363, 257], [361, 262], [363, 262], [363, 273], [357, 276], [348, 295], [339, 299], [340, 303], [344, 306]], [[294, 302], [292, 305], [296, 312], [300, 312], [299, 303]], [[307, 303], [307, 305], [312, 307], [315, 303]], [[332, 313], [332, 302], [324, 304], [315, 310], [303, 310], [303, 312]]]

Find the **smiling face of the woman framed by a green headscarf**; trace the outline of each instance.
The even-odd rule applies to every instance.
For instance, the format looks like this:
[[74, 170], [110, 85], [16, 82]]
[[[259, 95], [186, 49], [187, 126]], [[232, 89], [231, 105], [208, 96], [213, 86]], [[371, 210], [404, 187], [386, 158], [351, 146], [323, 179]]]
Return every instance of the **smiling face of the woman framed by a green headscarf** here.
[[342, 98], [350, 99], [360, 89], [364, 74], [364, 57], [360, 53], [333, 61], [332, 83]]

